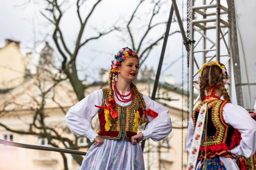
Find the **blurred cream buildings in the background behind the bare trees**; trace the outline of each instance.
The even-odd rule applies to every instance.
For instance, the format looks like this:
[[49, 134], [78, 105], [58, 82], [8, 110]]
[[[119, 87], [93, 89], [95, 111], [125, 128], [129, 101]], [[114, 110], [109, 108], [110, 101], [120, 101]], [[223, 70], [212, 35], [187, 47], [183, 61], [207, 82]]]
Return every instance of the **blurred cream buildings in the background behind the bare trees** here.
[[[87, 151], [92, 144], [84, 136], [75, 136], [65, 122], [68, 109], [78, 102], [66, 76], [56, 69], [54, 51], [46, 42], [40, 54], [29, 52], [22, 56], [19, 42], [6, 40], [0, 48], [0, 139], [13, 142]], [[34, 58], [39, 55], [39, 64]], [[101, 69], [100, 80], [83, 82], [85, 96], [94, 90], [108, 87], [109, 70]], [[142, 66], [141, 78], [136, 80], [139, 91], [151, 96], [154, 70]], [[169, 108], [173, 130], [160, 142], [147, 139], [144, 148], [145, 169], [181, 169], [187, 163], [187, 91], [184, 89], [184, 130], [182, 136], [182, 89], [167, 75], [160, 82], [156, 101]], [[97, 131], [97, 116], [92, 121]], [[139, 130], [143, 130], [144, 125]], [[183, 147], [182, 147], [183, 139]], [[80, 158], [71, 154], [40, 151], [1, 145], [0, 170], [78, 170]], [[183, 155], [183, 163], [181, 163]]]

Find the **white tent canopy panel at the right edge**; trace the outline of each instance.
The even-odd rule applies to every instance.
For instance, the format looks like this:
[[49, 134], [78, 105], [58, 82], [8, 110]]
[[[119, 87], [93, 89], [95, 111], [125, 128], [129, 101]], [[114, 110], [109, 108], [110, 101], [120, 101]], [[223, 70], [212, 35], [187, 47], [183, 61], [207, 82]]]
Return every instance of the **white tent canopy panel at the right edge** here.
[[239, 61], [233, 61], [233, 68], [235, 71], [236, 65], [239, 64], [240, 71], [235, 72], [233, 76], [240, 74], [241, 82], [235, 81], [235, 86], [240, 86], [242, 91], [242, 94], [238, 94], [239, 91], [236, 91], [237, 104], [247, 110], [254, 110], [256, 99], [256, 1], [234, 0], [234, 8]]

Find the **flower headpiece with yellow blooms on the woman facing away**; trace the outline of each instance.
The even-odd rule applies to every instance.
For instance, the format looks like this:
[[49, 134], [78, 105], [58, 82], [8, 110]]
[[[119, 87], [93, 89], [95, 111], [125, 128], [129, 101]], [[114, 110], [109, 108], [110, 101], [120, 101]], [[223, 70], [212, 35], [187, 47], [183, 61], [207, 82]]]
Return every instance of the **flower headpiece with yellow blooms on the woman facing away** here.
[[[205, 63], [203, 65], [203, 67], [201, 68], [201, 70], [199, 71], [199, 75], [202, 74], [203, 69], [205, 67], [209, 67], [209, 66], [212, 66], [212, 65], [217, 65], [217, 66], [219, 66], [221, 68], [221, 70], [222, 70], [222, 77], [221, 77], [222, 82], [223, 82], [223, 84], [227, 84], [227, 80], [229, 79], [229, 75], [227, 74], [227, 69], [224, 66], [224, 64], [222, 64], [219, 61], [210, 61], [210, 62]], [[201, 76], [198, 77], [198, 84], [201, 84]]]

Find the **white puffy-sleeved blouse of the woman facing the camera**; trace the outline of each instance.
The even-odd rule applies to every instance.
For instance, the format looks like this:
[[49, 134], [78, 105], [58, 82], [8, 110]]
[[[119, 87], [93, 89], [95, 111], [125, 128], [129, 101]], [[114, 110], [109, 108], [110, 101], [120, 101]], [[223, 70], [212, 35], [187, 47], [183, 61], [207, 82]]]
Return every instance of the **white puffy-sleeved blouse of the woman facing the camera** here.
[[[128, 92], [125, 94], [127, 93]], [[99, 108], [94, 105], [102, 106], [102, 98], [103, 91], [102, 89], [99, 89], [92, 92], [69, 109], [65, 118], [72, 133], [79, 136], [86, 136], [91, 142], [96, 138], [96, 136], [98, 136], [98, 134], [92, 129], [91, 120], [99, 110]], [[146, 114], [149, 123], [145, 130], [142, 131], [142, 134], [144, 135], [144, 139], [151, 138], [154, 141], [159, 141], [168, 136], [172, 131], [171, 118], [168, 115], [169, 110], [161, 104], [151, 100], [146, 95], [143, 95], [143, 98], [146, 103], [146, 109], [150, 108], [157, 112], [158, 116], [153, 118]], [[131, 101], [129, 103], [117, 101], [116, 97], [115, 100], [116, 103], [121, 106], [126, 106], [131, 103]]]

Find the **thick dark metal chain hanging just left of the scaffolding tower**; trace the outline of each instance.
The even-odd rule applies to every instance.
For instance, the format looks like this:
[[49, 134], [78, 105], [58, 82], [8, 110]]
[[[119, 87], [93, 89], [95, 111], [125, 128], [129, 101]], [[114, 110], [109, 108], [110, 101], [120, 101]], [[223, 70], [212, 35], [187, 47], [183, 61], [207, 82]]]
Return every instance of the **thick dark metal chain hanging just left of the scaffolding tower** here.
[[[190, 3], [190, 0], [187, 0], [187, 39], [188, 40], [190, 40], [190, 20], [191, 20], [191, 3]], [[189, 47], [189, 51], [187, 51], [187, 126], [188, 126], [188, 122], [189, 122], [189, 58], [190, 58], [190, 43], [188, 43], [188, 47]], [[187, 152], [187, 161], [188, 161], [188, 152]]]

